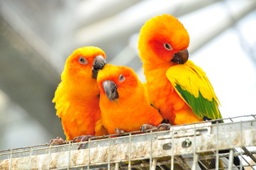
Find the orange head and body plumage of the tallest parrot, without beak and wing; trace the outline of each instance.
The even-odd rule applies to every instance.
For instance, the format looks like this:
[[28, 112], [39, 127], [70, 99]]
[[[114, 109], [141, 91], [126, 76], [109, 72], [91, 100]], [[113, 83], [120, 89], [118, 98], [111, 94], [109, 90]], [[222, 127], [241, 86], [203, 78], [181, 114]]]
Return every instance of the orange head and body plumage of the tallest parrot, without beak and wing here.
[[172, 125], [202, 121], [177, 94], [166, 76], [167, 70], [178, 64], [172, 62], [174, 54], [186, 50], [188, 46], [189, 34], [174, 16], [151, 18], [140, 30], [138, 49], [143, 61], [150, 101]]

